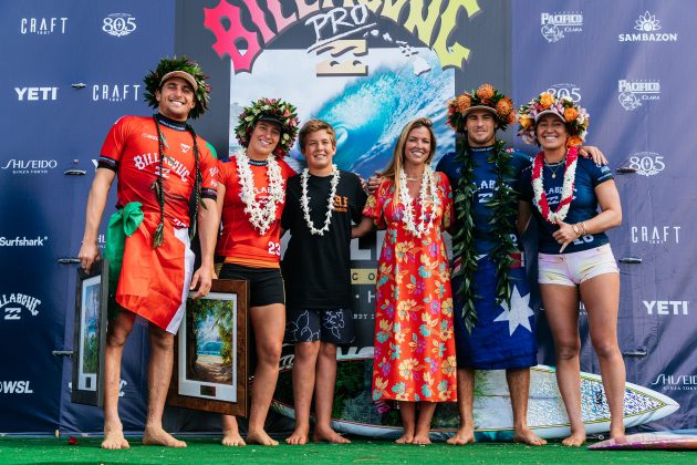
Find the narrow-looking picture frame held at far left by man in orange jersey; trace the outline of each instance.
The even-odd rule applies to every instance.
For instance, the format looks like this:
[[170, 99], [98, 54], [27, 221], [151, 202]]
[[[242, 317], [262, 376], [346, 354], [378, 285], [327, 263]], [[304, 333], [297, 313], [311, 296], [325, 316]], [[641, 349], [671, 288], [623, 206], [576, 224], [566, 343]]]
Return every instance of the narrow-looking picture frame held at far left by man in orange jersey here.
[[104, 404], [104, 350], [108, 307], [108, 262], [77, 269], [71, 402]]

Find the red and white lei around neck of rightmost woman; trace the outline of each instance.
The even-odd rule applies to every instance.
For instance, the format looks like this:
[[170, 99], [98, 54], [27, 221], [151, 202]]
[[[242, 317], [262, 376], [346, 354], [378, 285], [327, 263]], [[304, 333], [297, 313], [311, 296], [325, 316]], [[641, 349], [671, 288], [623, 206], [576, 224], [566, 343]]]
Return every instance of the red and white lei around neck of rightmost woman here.
[[[556, 225], [556, 219], [564, 220], [571, 200], [573, 200], [573, 184], [576, 178], [576, 162], [579, 158], [579, 149], [576, 147], [569, 148], [564, 164], [564, 184], [562, 185], [561, 200], [556, 206], [556, 211], [552, 211], [547, 200], [544, 192], [544, 183], [542, 180], [542, 165], [544, 161], [544, 152], [540, 152], [532, 162], [532, 192], [534, 193], [534, 205], [542, 214], [542, 217], [550, 224]], [[560, 165], [561, 166], [561, 165]], [[558, 168], [559, 169], [559, 168]]]

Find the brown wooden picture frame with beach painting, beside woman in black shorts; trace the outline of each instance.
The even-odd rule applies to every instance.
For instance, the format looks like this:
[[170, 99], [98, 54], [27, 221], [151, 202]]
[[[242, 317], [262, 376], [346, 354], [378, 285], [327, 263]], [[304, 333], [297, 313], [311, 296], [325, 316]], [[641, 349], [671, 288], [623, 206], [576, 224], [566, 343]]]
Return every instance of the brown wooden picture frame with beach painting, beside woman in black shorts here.
[[249, 285], [215, 279], [208, 296], [191, 296], [175, 335], [167, 404], [247, 416]]

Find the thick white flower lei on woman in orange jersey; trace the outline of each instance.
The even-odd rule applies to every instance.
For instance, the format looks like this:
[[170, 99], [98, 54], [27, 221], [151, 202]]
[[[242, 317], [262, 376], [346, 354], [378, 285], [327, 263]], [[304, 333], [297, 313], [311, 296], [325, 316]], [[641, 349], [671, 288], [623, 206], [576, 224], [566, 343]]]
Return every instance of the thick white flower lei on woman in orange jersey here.
[[275, 221], [275, 210], [283, 202], [285, 192], [283, 188], [283, 177], [281, 176], [281, 165], [273, 155], [267, 157], [267, 177], [269, 178], [269, 197], [267, 204], [261, 207], [254, 194], [254, 174], [249, 167], [249, 157], [246, 151], [235, 154], [237, 161], [237, 175], [240, 179], [240, 198], [245, 204], [245, 213], [249, 223], [260, 236], [267, 234], [271, 224]]

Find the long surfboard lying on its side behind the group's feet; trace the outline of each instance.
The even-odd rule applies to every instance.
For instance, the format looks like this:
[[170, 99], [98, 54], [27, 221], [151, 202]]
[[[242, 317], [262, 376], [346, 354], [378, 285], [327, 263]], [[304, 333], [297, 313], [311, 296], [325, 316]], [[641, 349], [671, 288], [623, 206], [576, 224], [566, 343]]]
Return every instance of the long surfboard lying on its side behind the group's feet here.
[[[397, 438], [402, 435], [399, 412], [394, 403], [374, 403], [371, 397], [373, 349], [356, 348], [340, 352], [336, 364], [336, 389], [332, 427], [353, 435]], [[291, 370], [293, 355], [283, 356], [274, 393], [273, 407], [284, 416], [295, 417], [293, 410]], [[586, 434], [610, 431], [610, 410], [601, 376], [581, 373], [581, 407]], [[624, 395], [626, 427], [653, 422], [675, 412], [679, 405], [670, 397], [653, 390], [627, 383]], [[503, 370], [477, 371], [475, 374], [475, 438], [507, 442], [513, 440], [513, 416], [510, 393]], [[459, 426], [455, 403], [443, 403], [436, 409], [431, 440], [450, 437]], [[556, 386], [554, 368], [537, 365], [530, 373], [528, 425], [547, 440], [570, 434], [569, 417]]]

